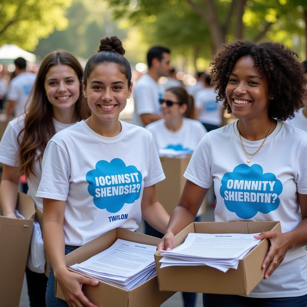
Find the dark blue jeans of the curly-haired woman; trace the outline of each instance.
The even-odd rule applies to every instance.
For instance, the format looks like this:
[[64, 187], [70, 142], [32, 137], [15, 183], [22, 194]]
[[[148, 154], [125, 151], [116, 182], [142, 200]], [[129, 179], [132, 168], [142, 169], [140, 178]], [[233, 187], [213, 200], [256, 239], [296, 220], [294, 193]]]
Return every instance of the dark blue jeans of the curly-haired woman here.
[[307, 294], [295, 297], [255, 298], [228, 294], [203, 294], [204, 307], [306, 307]]

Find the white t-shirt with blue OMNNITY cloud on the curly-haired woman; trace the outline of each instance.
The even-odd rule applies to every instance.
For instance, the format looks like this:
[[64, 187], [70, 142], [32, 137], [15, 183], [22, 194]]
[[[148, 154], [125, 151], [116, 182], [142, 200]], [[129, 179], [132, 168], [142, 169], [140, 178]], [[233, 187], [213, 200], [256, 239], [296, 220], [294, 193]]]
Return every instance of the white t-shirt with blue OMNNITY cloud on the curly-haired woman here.
[[[297, 192], [307, 194], [307, 133], [277, 122], [251, 163], [240, 143], [237, 122], [208, 132], [184, 177], [203, 188], [214, 182], [216, 222], [280, 221], [282, 232], [300, 222]], [[248, 152], [263, 140], [242, 139]], [[289, 250], [280, 266], [250, 297], [293, 297], [307, 293], [307, 251]]]

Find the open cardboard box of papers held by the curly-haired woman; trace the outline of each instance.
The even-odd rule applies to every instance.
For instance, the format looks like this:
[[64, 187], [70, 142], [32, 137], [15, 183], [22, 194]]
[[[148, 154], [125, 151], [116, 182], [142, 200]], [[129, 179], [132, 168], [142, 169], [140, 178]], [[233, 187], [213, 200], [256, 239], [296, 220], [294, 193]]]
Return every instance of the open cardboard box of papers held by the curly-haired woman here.
[[[280, 222], [205, 222], [191, 223], [179, 232], [173, 247], [184, 242], [188, 233], [258, 233], [281, 231]], [[269, 241], [262, 240], [242, 260], [238, 269], [226, 273], [210, 266], [170, 266], [160, 268], [161, 251], [155, 254], [160, 290], [216, 294], [248, 295], [262, 280], [262, 262], [269, 251]], [[188, 281], [188, 282], [187, 282]]]

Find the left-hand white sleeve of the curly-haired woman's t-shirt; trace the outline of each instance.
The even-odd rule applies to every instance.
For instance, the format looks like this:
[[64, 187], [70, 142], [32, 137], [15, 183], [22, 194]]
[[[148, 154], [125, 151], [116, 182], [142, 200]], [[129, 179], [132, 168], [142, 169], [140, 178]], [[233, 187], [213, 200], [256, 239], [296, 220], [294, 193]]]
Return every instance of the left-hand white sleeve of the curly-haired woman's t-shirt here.
[[211, 167], [211, 146], [206, 134], [197, 145], [183, 176], [202, 188], [210, 188], [213, 182]]

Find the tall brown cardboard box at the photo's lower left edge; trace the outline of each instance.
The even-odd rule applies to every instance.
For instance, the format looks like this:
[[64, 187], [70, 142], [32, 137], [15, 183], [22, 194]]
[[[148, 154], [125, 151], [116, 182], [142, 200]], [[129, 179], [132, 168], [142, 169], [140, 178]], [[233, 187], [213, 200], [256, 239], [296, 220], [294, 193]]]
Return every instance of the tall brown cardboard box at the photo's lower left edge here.
[[33, 200], [19, 192], [16, 209], [25, 217], [10, 219], [0, 209], [0, 305], [18, 307], [35, 214]]

